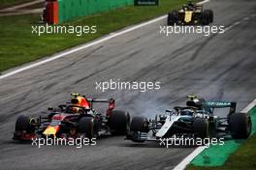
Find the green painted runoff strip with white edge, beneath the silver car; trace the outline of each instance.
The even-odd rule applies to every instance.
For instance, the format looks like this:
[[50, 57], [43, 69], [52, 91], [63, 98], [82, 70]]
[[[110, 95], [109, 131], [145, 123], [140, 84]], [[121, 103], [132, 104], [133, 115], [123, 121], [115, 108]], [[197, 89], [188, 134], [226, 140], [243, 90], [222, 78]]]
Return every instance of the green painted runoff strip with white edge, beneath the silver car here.
[[[243, 108], [241, 113], [248, 113], [251, 116], [252, 132], [253, 135], [256, 132], [256, 99]], [[235, 153], [240, 145], [245, 141], [228, 139], [225, 140], [224, 145], [211, 145], [208, 148], [206, 146], [198, 147], [189, 156], [186, 156], [181, 162], [179, 162], [173, 170], [185, 169], [188, 164], [194, 166], [221, 166], [225, 163], [228, 157]]]

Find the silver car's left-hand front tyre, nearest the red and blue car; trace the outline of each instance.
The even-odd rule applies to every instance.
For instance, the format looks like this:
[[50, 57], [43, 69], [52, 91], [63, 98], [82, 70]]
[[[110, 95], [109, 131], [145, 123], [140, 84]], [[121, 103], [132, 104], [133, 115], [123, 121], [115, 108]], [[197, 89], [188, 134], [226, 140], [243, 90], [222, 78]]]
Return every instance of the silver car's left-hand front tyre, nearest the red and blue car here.
[[148, 122], [145, 117], [137, 116], [132, 119], [130, 131], [148, 132]]

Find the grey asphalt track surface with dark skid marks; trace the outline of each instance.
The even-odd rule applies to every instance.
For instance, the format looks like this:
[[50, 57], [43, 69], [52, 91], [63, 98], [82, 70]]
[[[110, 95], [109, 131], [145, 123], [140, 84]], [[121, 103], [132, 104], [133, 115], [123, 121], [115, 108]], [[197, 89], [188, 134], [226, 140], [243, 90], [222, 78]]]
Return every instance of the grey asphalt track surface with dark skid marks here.
[[[18, 115], [38, 114], [79, 92], [114, 98], [117, 109], [151, 116], [182, 104], [194, 93], [206, 99], [238, 101], [238, 110], [256, 96], [256, 2], [211, 0], [214, 25], [232, 27], [221, 35], [165, 37], [150, 24], [108, 42], [0, 80], [0, 169], [171, 169], [195, 148], [165, 149], [157, 143], [134, 144], [122, 136], [76, 149], [38, 149], [12, 141]], [[247, 17], [243, 19], [244, 17]], [[235, 24], [235, 22], [238, 24]], [[161, 81], [161, 90], [95, 90], [95, 82]]]

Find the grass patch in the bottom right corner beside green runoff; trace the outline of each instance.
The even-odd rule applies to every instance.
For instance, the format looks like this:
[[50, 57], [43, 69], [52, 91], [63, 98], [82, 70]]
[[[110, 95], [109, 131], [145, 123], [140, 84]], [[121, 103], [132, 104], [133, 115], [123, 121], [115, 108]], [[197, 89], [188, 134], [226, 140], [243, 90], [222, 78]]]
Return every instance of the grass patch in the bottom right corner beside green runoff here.
[[188, 165], [187, 170], [253, 170], [256, 169], [256, 134], [246, 140], [223, 166], [199, 167]]

